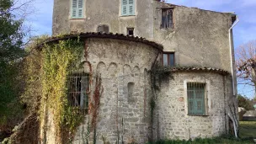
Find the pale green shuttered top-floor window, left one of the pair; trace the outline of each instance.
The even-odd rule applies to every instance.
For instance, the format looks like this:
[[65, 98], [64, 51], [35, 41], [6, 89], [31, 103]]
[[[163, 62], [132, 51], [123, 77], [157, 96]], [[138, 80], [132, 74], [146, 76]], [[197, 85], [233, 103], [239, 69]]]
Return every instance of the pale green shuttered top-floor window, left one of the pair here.
[[84, 0], [72, 0], [72, 19], [83, 19], [83, 3]]

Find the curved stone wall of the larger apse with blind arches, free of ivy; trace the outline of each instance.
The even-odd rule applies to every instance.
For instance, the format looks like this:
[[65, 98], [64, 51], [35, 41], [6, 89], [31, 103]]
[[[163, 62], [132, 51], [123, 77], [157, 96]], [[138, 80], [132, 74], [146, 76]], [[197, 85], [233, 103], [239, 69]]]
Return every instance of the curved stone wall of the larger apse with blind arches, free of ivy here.
[[[138, 42], [99, 38], [87, 39], [86, 50], [88, 56], [82, 61], [89, 61], [93, 76], [101, 74], [104, 88], [97, 118], [97, 143], [103, 143], [102, 136], [110, 143], [118, 139], [125, 143], [147, 142], [151, 97], [147, 71], [159, 51]], [[92, 84], [92, 93], [93, 87]], [[83, 142], [87, 136], [88, 119], [77, 129], [74, 143]], [[89, 140], [93, 141], [93, 131]]]

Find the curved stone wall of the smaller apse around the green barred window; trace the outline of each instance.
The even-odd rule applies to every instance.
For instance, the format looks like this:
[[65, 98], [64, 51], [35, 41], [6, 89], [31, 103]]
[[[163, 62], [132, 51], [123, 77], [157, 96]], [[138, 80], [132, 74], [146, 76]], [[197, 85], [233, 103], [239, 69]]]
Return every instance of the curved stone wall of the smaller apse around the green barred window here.
[[[206, 83], [207, 115], [188, 115], [187, 83]], [[189, 139], [225, 134], [230, 79], [211, 72], [177, 72], [162, 83], [154, 117], [154, 139]], [[226, 114], [225, 114], [226, 111]], [[225, 121], [226, 120], [226, 121]], [[227, 126], [228, 130], [228, 126]]]

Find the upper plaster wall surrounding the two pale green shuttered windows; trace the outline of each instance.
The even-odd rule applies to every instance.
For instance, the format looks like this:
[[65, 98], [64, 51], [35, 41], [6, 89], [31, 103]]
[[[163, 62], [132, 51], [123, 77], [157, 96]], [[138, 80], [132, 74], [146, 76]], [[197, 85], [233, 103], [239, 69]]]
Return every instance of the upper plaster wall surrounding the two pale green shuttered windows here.
[[135, 15], [121, 16], [121, 0], [85, 0], [84, 18], [71, 19], [72, 0], [55, 0], [52, 34], [97, 32], [99, 24], [109, 25], [109, 32], [126, 34], [135, 28], [135, 35], [152, 40], [152, 0], [135, 0]]

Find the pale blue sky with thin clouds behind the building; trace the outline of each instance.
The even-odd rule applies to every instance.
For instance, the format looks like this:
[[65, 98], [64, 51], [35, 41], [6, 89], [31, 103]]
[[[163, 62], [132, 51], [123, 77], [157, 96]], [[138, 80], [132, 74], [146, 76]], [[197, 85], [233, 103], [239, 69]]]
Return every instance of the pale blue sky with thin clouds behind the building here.
[[[140, 0], [142, 1], [142, 0]], [[168, 0], [168, 3], [217, 12], [235, 12], [239, 23], [233, 28], [235, 49], [256, 40], [256, 0]], [[33, 35], [51, 35], [53, 0], [35, 0], [34, 13], [26, 18]], [[253, 98], [253, 88], [238, 85], [238, 93]]]

